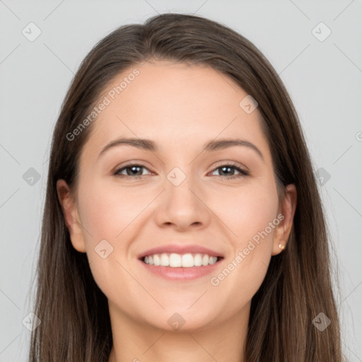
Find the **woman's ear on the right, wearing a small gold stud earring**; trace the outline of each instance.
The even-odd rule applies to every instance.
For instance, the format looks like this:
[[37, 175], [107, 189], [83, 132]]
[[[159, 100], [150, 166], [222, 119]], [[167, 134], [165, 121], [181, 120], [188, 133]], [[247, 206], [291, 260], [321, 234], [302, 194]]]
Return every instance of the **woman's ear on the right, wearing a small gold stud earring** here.
[[271, 255], [277, 255], [282, 252], [288, 243], [291, 228], [293, 227], [293, 218], [297, 205], [297, 189], [296, 185], [286, 186], [283, 200], [279, 207], [278, 219], [279, 225], [274, 230], [273, 249]]

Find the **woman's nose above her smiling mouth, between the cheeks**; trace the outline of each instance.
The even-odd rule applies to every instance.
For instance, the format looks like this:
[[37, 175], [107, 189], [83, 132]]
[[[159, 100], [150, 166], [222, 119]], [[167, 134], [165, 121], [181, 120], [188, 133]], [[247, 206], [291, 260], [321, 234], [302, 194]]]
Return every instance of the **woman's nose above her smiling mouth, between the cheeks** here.
[[207, 206], [207, 197], [200, 182], [187, 175], [178, 185], [173, 177], [180, 177], [177, 173], [168, 175], [165, 179], [165, 189], [158, 199], [155, 214], [158, 226], [173, 227], [182, 231], [189, 228], [205, 228], [211, 220], [211, 210]]

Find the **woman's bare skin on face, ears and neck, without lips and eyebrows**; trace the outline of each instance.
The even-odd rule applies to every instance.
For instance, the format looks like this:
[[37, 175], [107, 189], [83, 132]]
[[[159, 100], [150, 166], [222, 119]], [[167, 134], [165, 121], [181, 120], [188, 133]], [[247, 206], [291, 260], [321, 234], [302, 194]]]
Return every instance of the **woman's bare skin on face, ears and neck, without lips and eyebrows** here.
[[[239, 106], [247, 93], [233, 80], [207, 66], [158, 61], [127, 69], [107, 91], [135, 67], [139, 76], [92, 124], [76, 190], [57, 182], [71, 243], [87, 253], [108, 298], [114, 340], [109, 362], [243, 361], [250, 301], [271, 257], [282, 252], [278, 245], [287, 243], [296, 187], [288, 185], [279, 199], [261, 116]], [[151, 139], [159, 150], [122, 145], [98, 157], [121, 136]], [[247, 146], [202, 152], [207, 141], [221, 138], [249, 141], [262, 157]], [[123, 178], [113, 175], [128, 161], [143, 165], [143, 176], [127, 176], [124, 169]], [[250, 175], [233, 168], [223, 173], [220, 167], [230, 162]], [[175, 167], [186, 176], [178, 186], [167, 178]], [[212, 285], [211, 276], [279, 214], [283, 221]], [[104, 239], [113, 247], [105, 259], [94, 250]], [[212, 275], [168, 281], [148, 272], [137, 255], [169, 243], [209, 247], [224, 259]], [[178, 331], [168, 324], [174, 313], [185, 320]]]

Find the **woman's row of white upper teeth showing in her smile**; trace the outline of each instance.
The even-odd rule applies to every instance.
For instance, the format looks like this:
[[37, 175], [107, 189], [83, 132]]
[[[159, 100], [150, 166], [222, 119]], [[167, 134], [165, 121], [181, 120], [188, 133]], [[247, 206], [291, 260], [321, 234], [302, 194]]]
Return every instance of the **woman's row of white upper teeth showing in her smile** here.
[[147, 255], [144, 257], [144, 262], [156, 267], [192, 268], [215, 264], [217, 259], [217, 257], [210, 257], [206, 254], [187, 253], [180, 255], [174, 252], [170, 254], [163, 252], [162, 254]]

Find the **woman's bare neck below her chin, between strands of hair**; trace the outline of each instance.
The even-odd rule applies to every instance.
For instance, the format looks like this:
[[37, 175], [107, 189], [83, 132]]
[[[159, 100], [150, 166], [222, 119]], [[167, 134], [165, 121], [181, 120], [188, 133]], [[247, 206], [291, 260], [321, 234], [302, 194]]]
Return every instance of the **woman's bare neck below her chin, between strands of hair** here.
[[110, 304], [113, 346], [108, 362], [243, 362], [249, 313], [247, 305], [221, 324], [170, 332], [141, 324]]

